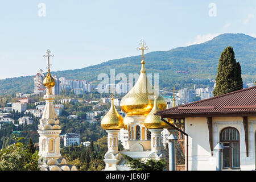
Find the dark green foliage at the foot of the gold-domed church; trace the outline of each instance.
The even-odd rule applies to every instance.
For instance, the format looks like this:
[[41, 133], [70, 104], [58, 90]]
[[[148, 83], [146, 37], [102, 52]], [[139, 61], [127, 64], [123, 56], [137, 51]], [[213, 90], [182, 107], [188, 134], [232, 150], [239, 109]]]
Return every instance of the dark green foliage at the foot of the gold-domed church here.
[[132, 171], [163, 171], [167, 164], [164, 159], [148, 159], [146, 162], [143, 162], [141, 159], [133, 159], [124, 154], [122, 156], [127, 160], [126, 164], [128, 164]]

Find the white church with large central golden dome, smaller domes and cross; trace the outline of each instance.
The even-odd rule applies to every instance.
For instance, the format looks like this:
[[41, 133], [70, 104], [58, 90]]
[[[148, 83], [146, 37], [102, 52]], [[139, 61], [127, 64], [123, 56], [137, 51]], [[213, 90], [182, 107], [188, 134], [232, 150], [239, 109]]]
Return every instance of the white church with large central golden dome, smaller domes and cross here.
[[[141, 73], [133, 88], [122, 98], [120, 103], [121, 110], [126, 113], [125, 118], [121, 116], [120, 118], [114, 114], [117, 113], [113, 112], [115, 109], [110, 109], [101, 121], [102, 128], [106, 129], [109, 134], [109, 151], [104, 156], [105, 170], [130, 170], [125, 164], [126, 161], [122, 154], [142, 160], [163, 158], [161, 132], [164, 128], [168, 128], [168, 125], [154, 114], [156, 111], [166, 109], [167, 102], [148, 81], [144, 61], [144, 50], [147, 47], [143, 40], [140, 45], [141, 47], [138, 49], [142, 51]], [[113, 122], [115, 128], [110, 127]], [[118, 140], [115, 139], [113, 143], [113, 137], [117, 137], [121, 128], [127, 131], [128, 140], [125, 150], [118, 151]]]

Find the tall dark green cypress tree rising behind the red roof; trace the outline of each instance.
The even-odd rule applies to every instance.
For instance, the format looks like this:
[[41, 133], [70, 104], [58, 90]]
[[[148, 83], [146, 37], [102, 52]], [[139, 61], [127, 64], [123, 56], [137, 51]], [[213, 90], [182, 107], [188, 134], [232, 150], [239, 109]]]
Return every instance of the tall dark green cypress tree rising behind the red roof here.
[[233, 92], [243, 88], [241, 77], [241, 66], [236, 61], [232, 47], [226, 47], [221, 52], [216, 77], [216, 87], [213, 90], [214, 96]]

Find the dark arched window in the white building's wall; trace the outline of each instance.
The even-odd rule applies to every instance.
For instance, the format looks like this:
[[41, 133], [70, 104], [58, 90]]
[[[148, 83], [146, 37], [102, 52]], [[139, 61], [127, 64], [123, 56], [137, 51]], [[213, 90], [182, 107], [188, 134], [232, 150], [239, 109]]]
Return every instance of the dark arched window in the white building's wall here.
[[236, 128], [226, 127], [221, 131], [223, 168], [240, 168], [240, 135]]

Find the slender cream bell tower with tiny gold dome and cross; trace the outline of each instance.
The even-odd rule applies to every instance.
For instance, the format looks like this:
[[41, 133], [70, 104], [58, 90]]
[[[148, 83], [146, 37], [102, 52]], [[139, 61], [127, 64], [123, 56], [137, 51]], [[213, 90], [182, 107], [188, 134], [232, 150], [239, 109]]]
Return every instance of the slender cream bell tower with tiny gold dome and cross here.
[[53, 106], [53, 100], [55, 96], [52, 94], [52, 88], [55, 86], [55, 79], [50, 73], [49, 49], [47, 55], [48, 58], [48, 73], [43, 80], [43, 84], [46, 87], [46, 94], [44, 100], [46, 100], [46, 106], [44, 107], [42, 118], [38, 125], [39, 137], [39, 166], [41, 171], [76, 171], [76, 166], [67, 164], [65, 158], [60, 154], [60, 125], [59, 119], [56, 117], [55, 109]]

